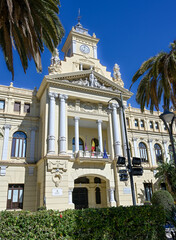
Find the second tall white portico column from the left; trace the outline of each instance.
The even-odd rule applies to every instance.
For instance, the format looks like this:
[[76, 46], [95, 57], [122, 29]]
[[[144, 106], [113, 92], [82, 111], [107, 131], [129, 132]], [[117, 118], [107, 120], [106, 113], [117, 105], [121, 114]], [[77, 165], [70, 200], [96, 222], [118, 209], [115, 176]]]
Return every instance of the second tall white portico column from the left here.
[[66, 153], [66, 113], [65, 113], [65, 100], [68, 96], [60, 94], [60, 136], [59, 136], [59, 145], [60, 151], [59, 153]]

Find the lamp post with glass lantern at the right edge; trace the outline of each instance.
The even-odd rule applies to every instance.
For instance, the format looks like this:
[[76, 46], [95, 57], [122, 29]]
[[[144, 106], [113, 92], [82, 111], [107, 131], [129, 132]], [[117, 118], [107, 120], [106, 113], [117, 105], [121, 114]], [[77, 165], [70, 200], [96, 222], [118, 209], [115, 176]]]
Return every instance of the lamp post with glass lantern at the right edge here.
[[172, 130], [175, 114], [173, 112], [170, 112], [168, 109], [164, 109], [164, 112], [159, 117], [164, 122], [164, 125], [169, 132], [169, 137], [170, 137], [170, 142], [172, 145], [172, 151], [173, 151], [173, 157], [174, 157], [174, 163], [176, 166], [176, 154], [175, 154], [174, 138], [173, 138], [173, 130]]

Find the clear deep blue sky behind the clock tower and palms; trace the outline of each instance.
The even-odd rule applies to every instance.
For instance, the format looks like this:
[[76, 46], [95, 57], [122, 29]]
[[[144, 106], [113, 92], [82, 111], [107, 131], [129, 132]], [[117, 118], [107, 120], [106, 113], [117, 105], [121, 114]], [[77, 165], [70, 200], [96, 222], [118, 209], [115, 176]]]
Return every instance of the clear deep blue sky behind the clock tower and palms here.
[[[113, 71], [115, 63], [120, 65], [125, 88], [131, 85], [131, 79], [143, 61], [160, 51], [168, 51], [169, 43], [176, 39], [176, 1], [175, 0], [60, 0], [60, 20], [65, 29], [65, 37], [59, 45], [61, 50], [72, 26], [77, 23], [78, 9], [81, 10], [81, 23], [95, 32], [98, 43], [98, 58]], [[63, 54], [60, 54], [63, 59]], [[15, 87], [39, 88], [44, 75], [48, 74], [50, 52], [45, 49], [42, 55], [43, 72], [37, 73], [33, 61], [29, 62], [24, 74], [17, 53], [14, 54]], [[0, 84], [10, 85], [11, 73], [7, 70], [0, 50]], [[129, 102], [135, 102], [137, 89], [132, 88], [134, 96]]]

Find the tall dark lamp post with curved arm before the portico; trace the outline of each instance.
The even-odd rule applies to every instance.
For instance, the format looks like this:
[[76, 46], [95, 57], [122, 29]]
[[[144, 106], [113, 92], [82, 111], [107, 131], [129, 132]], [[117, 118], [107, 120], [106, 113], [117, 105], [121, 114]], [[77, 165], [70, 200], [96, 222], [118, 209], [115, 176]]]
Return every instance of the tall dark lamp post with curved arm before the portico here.
[[123, 114], [123, 124], [124, 124], [124, 131], [125, 131], [125, 140], [126, 140], [126, 150], [127, 150], [127, 159], [128, 159], [128, 171], [130, 175], [130, 184], [131, 184], [131, 194], [132, 194], [132, 201], [133, 205], [136, 205], [136, 197], [135, 197], [135, 190], [134, 190], [134, 181], [133, 181], [133, 174], [132, 174], [132, 165], [131, 165], [131, 158], [130, 158], [130, 149], [128, 143], [128, 136], [127, 136], [127, 129], [126, 129], [126, 122], [125, 122], [125, 112], [124, 112], [124, 105], [123, 105], [123, 98], [122, 94], [120, 94], [121, 99], [114, 97], [108, 101], [108, 103], [112, 100], [118, 102], [119, 106], [122, 108]]

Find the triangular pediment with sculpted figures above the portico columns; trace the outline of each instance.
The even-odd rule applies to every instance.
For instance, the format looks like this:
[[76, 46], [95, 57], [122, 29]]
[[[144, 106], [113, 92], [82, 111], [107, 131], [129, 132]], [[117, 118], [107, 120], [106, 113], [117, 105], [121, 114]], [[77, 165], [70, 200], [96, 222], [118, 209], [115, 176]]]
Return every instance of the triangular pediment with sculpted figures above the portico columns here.
[[104, 92], [122, 93], [124, 95], [128, 95], [129, 97], [132, 96], [132, 93], [127, 89], [93, 70], [58, 74], [48, 76], [47, 78], [52, 78], [53, 80], [55, 79], [56, 82], [70, 85], [70, 87], [74, 85], [75, 87], [84, 87], [84, 89], [89, 89], [91, 91], [101, 90]]

